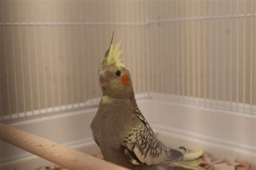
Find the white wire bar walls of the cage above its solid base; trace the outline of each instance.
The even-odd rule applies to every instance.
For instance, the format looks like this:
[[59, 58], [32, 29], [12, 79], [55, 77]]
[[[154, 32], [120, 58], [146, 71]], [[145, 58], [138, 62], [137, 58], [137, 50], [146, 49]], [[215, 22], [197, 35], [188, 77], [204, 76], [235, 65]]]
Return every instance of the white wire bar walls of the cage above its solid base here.
[[256, 1], [0, 1], [0, 120], [97, 105], [122, 39], [138, 97], [256, 114]]

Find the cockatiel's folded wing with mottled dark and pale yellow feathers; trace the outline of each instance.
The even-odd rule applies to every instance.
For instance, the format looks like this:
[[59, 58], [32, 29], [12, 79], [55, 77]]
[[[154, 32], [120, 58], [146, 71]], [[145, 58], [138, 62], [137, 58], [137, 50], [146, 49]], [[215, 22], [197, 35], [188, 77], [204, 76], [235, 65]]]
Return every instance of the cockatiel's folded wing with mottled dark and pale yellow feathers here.
[[[134, 165], [156, 165], [166, 160], [171, 161], [172, 153], [157, 139], [144, 116], [138, 109], [134, 114], [138, 117], [138, 123], [123, 143], [127, 159]], [[181, 155], [180, 153], [180, 157]], [[177, 158], [175, 156], [171, 159]]]

